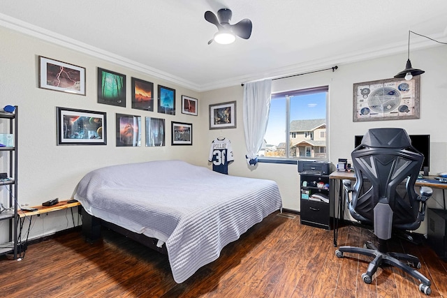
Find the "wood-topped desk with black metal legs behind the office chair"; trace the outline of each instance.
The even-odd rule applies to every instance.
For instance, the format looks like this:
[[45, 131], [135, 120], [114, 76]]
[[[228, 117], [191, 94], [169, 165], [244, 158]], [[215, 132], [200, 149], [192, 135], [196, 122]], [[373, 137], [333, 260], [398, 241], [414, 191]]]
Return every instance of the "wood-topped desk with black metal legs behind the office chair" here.
[[[447, 183], [441, 183], [435, 179], [436, 176], [425, 176], [423, 179], [417, 179], [416, 184], [414, 186], [429, 186], [431, 188], [439, 188], [442, 189], [442, 196], [444, 199], [444, 209], [446, 209], [446, 194], [445, 190], [447, 189]], [[343, 189], [343, 179], [349, 179], [352, 181], [356, 181], [356, 176], [354, 172], [344, 172], [344, 171], [335, 171], [330, 173], [330, 188], [332, 189], [332, 202], [334, 204], [334, 246], [337, 246], [337, 238], [338, 238], [338, 221], [344, 220], [344, 189]], [[335, 181], [339, 180], [339, 193], [338, 193], [338, 210], [336, 208], [335, 202]], [[336, 214], [335, 210], [339, 213]], [[338, 218], [340, 216], [340, 218]]]

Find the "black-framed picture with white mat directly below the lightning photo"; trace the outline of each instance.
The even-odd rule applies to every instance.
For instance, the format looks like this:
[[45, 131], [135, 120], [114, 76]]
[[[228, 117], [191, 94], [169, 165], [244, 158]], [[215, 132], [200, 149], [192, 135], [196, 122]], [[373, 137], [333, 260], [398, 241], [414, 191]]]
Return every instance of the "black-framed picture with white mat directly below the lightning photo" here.
[[105, 112], [57, 107], [57, 145], [107, 144]]

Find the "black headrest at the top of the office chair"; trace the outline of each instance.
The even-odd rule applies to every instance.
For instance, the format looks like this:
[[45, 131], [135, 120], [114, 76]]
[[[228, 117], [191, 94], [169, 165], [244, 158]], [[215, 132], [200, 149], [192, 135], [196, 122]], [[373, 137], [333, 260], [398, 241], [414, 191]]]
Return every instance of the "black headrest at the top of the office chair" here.
[[371, 128], [362, 138], [362, 145], [376, 148], [406, 148], [411, 139], [403, 128]]

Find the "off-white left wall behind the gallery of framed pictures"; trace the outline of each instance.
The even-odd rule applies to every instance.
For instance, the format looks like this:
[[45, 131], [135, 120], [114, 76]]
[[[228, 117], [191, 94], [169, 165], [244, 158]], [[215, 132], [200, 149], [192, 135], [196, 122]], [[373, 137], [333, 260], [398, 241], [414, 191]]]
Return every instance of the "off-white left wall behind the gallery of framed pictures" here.
[[[200, 147], [199, 136], [205, 128], [201, 128], [199, 117], [181, 112], [181, 96], [198, 98], [200, 102], [198, 92], [3, 27], [0, 27], [0, 36], [0, 106], [19, 107], [17, 200], [20, 204], [36, 206], [52, 198], [67, 200], [83, 175], [97, 167], [159, 159], [183, 159], [195, 163], [198, 159], [196, 148]], [[85, 67], [87, 96], [39, 89], [39, 55]], [[97, 67], [126, 75], [126, 107], [97, 103]], [[132, 109], [131, 77], [153, 82], [155, 95], [157, 84], [175, 89], [175, 116], [160, 114], [156, 107], [154, 112]], [[57, 146], [56, 107], [107, 112], [107, 145]], [[142, 135], [141, 147], [116, 147], [115, 113], [141, 116], [143, 132], [145, 117], [166, 119], [166, 146], [145, 147], [145, 136]], [[171, 121], [193, 124], [193, 146], [170, 145]], [[1, 127], [4, 127], [4, 122], [0, 123]], [[4, 159], [0, 158], [3, 168], [6, 167]], [[2, 202], [6, 202], [7, 192], [2, 191], [0, 195]], [[36, 223], [31, 235], [48, 234], [73, 226], [69, 211], [68, 214], [53, 212], [34, 220]], [[0, 242], [7, 236], [5, 225], [6, 221], [0, 222]]]

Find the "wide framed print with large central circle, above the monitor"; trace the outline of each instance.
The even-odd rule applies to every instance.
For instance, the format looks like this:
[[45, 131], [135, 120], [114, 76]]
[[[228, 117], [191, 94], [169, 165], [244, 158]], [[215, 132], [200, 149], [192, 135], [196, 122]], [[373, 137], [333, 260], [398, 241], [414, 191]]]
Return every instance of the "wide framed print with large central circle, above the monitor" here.
[[353, 121], [419, 119], [420, 77], [354, 84]]

